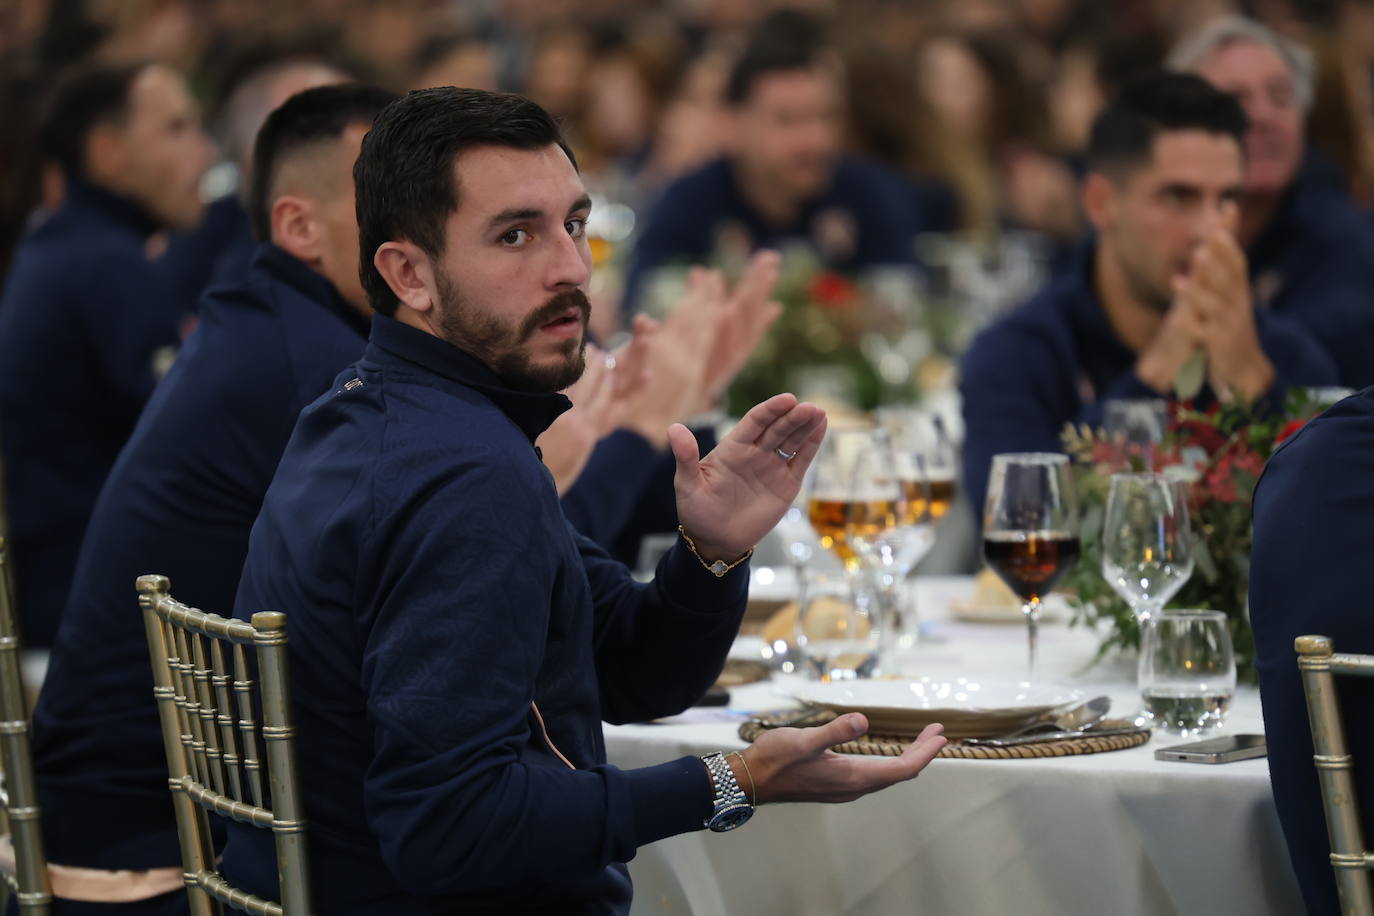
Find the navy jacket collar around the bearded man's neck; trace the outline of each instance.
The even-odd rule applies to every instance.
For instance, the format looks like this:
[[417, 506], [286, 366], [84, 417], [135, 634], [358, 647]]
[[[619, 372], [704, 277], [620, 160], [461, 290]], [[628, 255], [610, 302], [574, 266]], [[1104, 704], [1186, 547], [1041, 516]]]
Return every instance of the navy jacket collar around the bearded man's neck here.
[[[530, 442], [573, 405], [558, 393], [517, 391], [471, 353], [385, 314], [372, 316], [368, 350], [379, 356], [379, 361], [403, 360], [478, 391], [508, 416]], [[378, 350], [390, 358], [378, 354]]]

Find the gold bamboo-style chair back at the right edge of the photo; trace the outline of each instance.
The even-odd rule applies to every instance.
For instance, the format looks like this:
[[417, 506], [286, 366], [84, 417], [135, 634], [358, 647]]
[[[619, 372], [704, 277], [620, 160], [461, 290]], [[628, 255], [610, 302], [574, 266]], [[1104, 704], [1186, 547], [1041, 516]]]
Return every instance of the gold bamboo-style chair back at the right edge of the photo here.
[[1326, 834], [1331, 840], [1331, 867], [1341, 895], [1341, 912], [1374, 916], [1369, 869], [1374, 854], [1364, 847], [1360, 809], [1355, 797], [1355, 762], [1345, 743], [1341, 706], [1336, 696], [1337, 674], [1374, 677], [1374, 655], [1338, 655], [1325, 636], [1300, 636], [1294, 641], [1297, 666], [1307, 694], [1308, 722], [1316, 776], [1322, 783]]

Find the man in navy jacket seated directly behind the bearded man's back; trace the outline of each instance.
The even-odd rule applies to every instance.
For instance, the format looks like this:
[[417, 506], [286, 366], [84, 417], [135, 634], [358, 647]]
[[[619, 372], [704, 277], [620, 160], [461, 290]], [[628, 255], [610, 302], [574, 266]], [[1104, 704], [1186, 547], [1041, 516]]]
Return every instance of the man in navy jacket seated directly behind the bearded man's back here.
[[47, 851], [63, 865], [166, 875], [165, 895], [99, 912], [185, 909], [132, 582], [165, 571], [187, 602], [221, 614], [234, 606], [249, 531], [297, 413], [365, 346], [352, 169], [392, 99], [330, 87], [268, 118], [250, 206], [262, 243], [238, 284], [202, 299], [196, 331], [91, 518], [34, 713]]

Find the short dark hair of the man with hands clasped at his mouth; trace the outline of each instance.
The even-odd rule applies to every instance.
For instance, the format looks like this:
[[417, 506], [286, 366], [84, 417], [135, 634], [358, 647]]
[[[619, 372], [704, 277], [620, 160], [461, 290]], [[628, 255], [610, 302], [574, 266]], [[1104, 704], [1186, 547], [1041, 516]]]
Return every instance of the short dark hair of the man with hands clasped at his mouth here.
[[1127, 85], [1092, 122], [1088, 168], [1121, 176], [1150, 161], [1165, 132], [1202, 130], [1245, 150], [1249, 121], [1237, 98], [1191, 73], [1158, 71]]

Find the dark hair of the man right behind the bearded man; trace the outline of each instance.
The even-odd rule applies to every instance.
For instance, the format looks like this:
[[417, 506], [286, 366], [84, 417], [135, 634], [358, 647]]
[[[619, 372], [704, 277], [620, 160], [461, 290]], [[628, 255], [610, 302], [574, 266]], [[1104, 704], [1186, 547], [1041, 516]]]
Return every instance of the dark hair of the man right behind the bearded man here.
[[283, 162], [305, 147], [337, 140], [354, 124], [371, 124], [396, 98], [387, 89], [345, 82], [297, 92], [272, 111], [253, 143], [253, 235], [261, 242], [272, 238], [272, 184]]

